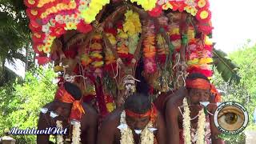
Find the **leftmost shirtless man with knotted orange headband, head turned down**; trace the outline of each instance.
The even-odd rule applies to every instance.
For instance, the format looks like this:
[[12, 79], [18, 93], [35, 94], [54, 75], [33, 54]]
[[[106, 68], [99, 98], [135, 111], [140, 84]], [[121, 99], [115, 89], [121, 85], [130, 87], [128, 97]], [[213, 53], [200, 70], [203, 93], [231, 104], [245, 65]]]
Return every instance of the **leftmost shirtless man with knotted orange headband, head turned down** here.
[[[57, 135], [58, 143], [96, 143], [98, 114], [86, 103], [82, 103], [81, 98], [82, 93], [78, 86], [64, 82], [58, 87], [54, 101], [42, 108], [38, 130], [49, 130], [50, 127], [62, 127], [62, 130], [67, 128], [66, 134]], [[38, 134], [37, 143], [49, 143], [49, 138], [50, 134]]]

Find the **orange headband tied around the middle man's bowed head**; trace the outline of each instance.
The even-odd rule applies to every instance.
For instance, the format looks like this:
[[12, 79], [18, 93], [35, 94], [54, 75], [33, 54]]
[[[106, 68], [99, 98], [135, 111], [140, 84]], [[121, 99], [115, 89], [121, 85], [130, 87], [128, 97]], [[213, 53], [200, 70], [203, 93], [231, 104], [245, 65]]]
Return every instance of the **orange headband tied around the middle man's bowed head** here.
[[151, 109], [148, 110], [145, 114], [136, 114], [131, 110], [126, 110], [126, 115], [132, 118], [144, 118], [150, 116], [150, 121], [155, 122], [155, 119], [157, 118], [157, 112], [158, 110], [154, 106], [154, 104], [151, 104]]

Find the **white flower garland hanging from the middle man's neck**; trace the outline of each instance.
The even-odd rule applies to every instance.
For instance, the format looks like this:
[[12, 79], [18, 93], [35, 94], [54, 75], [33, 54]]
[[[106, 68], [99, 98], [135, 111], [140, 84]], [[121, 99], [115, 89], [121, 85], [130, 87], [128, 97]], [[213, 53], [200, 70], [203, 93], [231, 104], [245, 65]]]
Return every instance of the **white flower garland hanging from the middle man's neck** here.
[[[142, 130], [141, 133], [141, 144], [154, 144], [154, 133], [153, 131], [156, 130], [153, 127], [153, 123], [149, 122], [148, 125]], [[121, 131], [121, 144], [133, 144], [134, 143], [134, 134], [132, 130], [126, 124], [126, 112], [122, 111], [121, 118], [120, 118], [120, 126], [118, 129]]]

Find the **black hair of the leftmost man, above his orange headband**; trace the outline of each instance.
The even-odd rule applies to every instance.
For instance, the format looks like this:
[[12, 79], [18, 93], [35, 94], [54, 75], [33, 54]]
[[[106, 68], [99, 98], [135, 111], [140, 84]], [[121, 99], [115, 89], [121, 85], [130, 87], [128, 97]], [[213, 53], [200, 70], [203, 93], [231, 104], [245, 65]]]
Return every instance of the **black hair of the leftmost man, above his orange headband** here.
[[82, 98], [82, 92], [78, 86], [74, 83], [64, 82], [65, 90], [72, 95], [75, 100], [80, 100]]

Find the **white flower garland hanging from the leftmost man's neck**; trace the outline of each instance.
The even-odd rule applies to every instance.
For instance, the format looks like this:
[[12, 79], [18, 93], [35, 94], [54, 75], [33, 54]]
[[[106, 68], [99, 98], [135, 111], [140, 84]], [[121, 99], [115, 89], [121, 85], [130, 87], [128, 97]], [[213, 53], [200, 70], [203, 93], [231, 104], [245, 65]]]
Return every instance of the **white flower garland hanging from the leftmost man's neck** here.
[[[56, 121], [57, 128], [63, 129], [62, 121]], [[72, 131], [72, 144], [79, 144], [81, 141], [80, 134], [80, 122], [74, 122]], [[63, 144], [64, 140], [61, 134], [57, 134], [57, 144]]]

